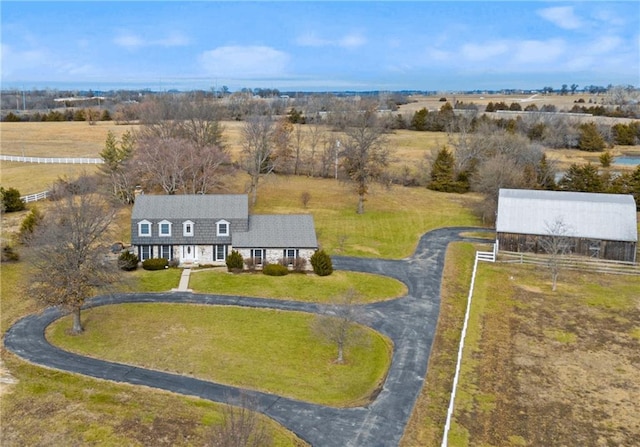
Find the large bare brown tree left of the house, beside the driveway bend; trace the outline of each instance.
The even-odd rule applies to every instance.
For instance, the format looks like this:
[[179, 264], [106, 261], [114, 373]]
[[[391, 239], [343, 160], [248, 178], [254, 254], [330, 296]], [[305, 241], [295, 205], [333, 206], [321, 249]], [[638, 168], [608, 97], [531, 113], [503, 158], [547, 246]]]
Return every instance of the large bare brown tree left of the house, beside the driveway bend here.
[[115, 280], [106, 260], [107, 230], [115, 211], [86, 183], [74, 183], [52, 203], [35, 231], [29, 259], [29, 292], [73, 314], [73, 333], [82, 332], [80, 310], [86, 298]]

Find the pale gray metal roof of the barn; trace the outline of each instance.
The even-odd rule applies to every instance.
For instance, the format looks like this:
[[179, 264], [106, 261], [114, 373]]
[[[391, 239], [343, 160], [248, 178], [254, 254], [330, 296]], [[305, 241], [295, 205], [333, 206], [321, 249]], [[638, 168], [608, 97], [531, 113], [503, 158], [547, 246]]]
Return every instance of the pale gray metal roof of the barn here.
[[498, 233], [546, 235], [558, 220], [567, 226], [567, 236], [638, 241], [638, 218], [632, 195], [500, 190]]

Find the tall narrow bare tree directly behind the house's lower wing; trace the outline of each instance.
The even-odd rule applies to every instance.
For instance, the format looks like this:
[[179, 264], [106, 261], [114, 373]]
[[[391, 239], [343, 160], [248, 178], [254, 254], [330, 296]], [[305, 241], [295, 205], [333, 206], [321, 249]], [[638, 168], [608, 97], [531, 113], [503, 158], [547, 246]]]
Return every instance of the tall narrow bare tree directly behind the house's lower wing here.
[[255, 205], [260, 179], [273, 172], [276, 166], [271, 117], [249, 117], [242, 127], [242, 153], [242, 164], [250, 179], [251, 203]]

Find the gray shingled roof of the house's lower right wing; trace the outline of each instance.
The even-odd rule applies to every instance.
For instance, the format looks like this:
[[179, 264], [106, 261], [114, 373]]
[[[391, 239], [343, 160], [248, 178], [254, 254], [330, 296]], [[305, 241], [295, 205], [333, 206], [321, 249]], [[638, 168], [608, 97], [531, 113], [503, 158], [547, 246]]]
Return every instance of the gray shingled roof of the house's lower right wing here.
[[234, 248], [317, 248], [310, 214], [258, 214], [249, 216], [249, 231], [231, 236]]

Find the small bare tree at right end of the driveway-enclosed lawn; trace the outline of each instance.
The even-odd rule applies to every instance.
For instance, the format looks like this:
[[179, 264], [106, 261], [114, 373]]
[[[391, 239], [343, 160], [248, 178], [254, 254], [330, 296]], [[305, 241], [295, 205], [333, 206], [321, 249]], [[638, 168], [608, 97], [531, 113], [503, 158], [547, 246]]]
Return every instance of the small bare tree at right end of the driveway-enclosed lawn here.
[[356, 321], [361, 318], [361, 309], [356, 305], [358, 295], [349, 289], [336, 297], [325, 308], [325, 314], [318, 315], [313, 322], [313, 332], [320, 338], [335, 344], [336, 363], [344, 363], [344, 351], [348, 346], [361, 342]]

